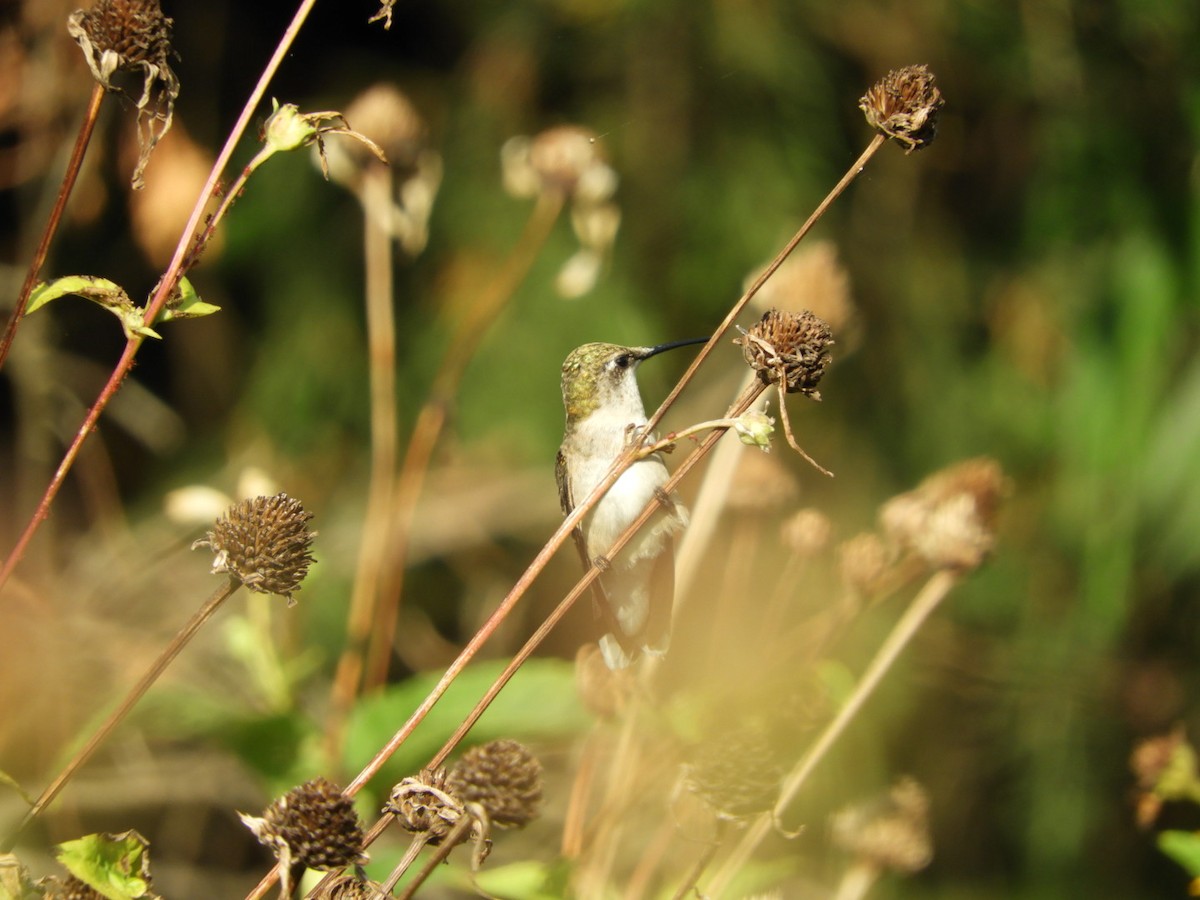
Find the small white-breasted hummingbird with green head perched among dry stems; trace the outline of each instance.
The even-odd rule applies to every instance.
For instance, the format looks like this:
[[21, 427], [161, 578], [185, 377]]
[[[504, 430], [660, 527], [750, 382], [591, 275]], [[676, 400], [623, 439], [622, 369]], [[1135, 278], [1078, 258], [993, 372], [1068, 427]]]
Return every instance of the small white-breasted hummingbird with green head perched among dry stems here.
[[[658, 347], [586, 343], [571, 350], [563, 362], [566, 430], [554, 467], [564, 516], [592, 493], [631, 442], [647, 437], [637, 366], [664, 350], [707, 340]], [[625, 668], [642, 652], [662, 655], [670, 643], [674, 535], [688, 524], [688, 510], [664, 493], [666, 481], [661, 454], [638, 460], [622, 473], [572, 535], [586, 569], [604, 559], [604, 572], [593, 587], [600, 618], [608, 628], [600, 638], [600, 653], [608, 668]], [[608, 559], [613, 541], [655, 498], [662, 509], [616, 559]]]

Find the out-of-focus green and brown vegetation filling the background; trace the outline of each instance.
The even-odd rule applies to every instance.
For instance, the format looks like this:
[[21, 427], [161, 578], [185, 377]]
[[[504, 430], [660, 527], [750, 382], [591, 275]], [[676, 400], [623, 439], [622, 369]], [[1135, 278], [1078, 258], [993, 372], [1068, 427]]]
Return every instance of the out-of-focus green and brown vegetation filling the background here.
[[[199, 187], [187, 155], [215, 155], [292, 13], [278, 0], [163, 5], [182, 82], [178, 144], [146, 178], [176, 192], [162, 200], [174, 218], [131, 205], [130, 114], [109, 104], [47, 268], [109, 277], [136, 298]], [[62, 28], [73, 6], [28, 0], [0, 13], [5, 298], [90, 90]], [[925, 62], [947, 98], [937, 140], [912, 156], [883, 148], [812, 235], [836, 245], [857, 307], [824, 401], [793, 401], [802, 443], [836, 478], [776, 452], [799, 503], [827, 511], [840, 536], [962, 457], [998, 460], [1013, 493], [995, 559], [910, 652], [830, 778], [851, 798], [901, 772], [928, 786], [936, 859], [889, 887], [894, 896], [1183, 895], [1183, 871], [1134, 824], [1128, 755], [1177, 721], [1200, 733], [1200, 7], [443, 0], [397, 4], [390, 31], [366, 24], [374, 11], [318, 4], [270, 95], [346, 109], [389, 82], [442, 156], [428, 246], [397, 254], [402, 442], [448, 317], [497, 277], [529, 215], [530, 202], [502, 188], [502, 144], [590, 127], [619, 173], [622, 210], [595, 289], [554, 293], [575, 247], [560, 222], [466, 372], [421, 500], [392, 679], [444, 665], [554, 528], [566, 353], [710, 331], [865, 146], [858, 97], [888, 70]], [[168, 492], [233, 493], [253, 468], [301, 498], [320, 533], [319, 565], [287, 623], [262, 622], [282, 618], [281, 606], [242, 622], [248, 635], [282, 628], [284, 660], [256, 662], [252, 636], [212, 636], [108, 766], [158, 755], [206, 772], [212, 757], [240, 760], [217, 766], [214, 790], [248, 810], [313, 774], [295, 748], [341, 648], [368, 472], [361, 259], [356, 203], [305, 154], [251, 181], [192, 274], [222, 312], [168, 324], [143, 349], [0, 596], [0, 700], [12, 710], [0, 716], [0, 768], [40, 784], [112, 685], [127, 684], [210, 589], [206, 560], [184, 552], [197, 529], [163, 515]], [[0, 373], [5, 552], [122, 343], [83, 301], [55, 306], [26, 320]], [[650, 406], [683, 365], [647, 365]], [[738, 374], [730, 347], [674, 425], [720, 414]], [[576, 571], [558, 560], [492, 654], [518, 646]], [[547, 653], [570, 659], [587, 626], [580, 613]], [[271, 689], [272, 678], [286, 685]], [[559, 713], [545, 733], [578, 727], [569, 703], [548, 706]], [[163, 827], [145, 821], [149, 799], [112, 778], [88, 782], [101, 799], [68, 802], [49, 836], [143, 817], [154, 840]], [[182, 781], [156, 775], [146, 790]], [[182, 791], [175, 814], [220, 818], [200, 793]], [[1166, 815], [1198, 826], [1188, 810]], [[256, 848], [230, 850], [236, 829], [205, 824], [193, 850], [242, 866], [232, 883], [246, 887], [264, 869]], [[169, 881], [160, 887], [170, 895]]]

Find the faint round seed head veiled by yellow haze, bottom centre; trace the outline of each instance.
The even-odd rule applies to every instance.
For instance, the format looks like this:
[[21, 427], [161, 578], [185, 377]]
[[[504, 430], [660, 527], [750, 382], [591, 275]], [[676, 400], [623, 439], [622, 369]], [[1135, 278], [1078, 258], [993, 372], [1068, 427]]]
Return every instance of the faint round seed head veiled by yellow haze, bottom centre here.
[[695, 745], [684, 764], [684, 785], [718, 818], [739, 820], [775, 804], [784, 772], [767, 728], [749, 724]]

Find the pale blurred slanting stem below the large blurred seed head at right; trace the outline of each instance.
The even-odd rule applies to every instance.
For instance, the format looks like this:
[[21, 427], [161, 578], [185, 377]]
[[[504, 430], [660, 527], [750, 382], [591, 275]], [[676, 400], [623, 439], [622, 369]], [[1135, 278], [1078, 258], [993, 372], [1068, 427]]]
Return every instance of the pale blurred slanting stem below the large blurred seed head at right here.
[[746, 860], [750, 859], [750, 856], [770, 833], [772, 828], [779, 827], [787, 805], [796, 798], [796, 794], [799, 793], [814, 769], [816, 769], [817, 764], [826, 757], [826, 754], [829, 752], [829, 749], [833, 748], [846, 731], [846, 726], [854, 720], [876, 688], [880, 686], [884, 676], [890, 671], [892, 665], [899, 659], [925, 620], [929, 619], [930, 614], [938, 607], [950, 589], [958, 584], [959, 577], [959, 574], [952, 570], [940, 570], [934, 572], [929, 581], [925, 582], [925, 586], [913, 598], [908, 608], [905, 610], [904, 614], [892, 628], [883, 643], [880, 644], [880, 649], [875, 652], [870, 665], [863, 672], [862, 678], [858, 679], [858, 684], [854, 685], [854, 692], [842, 704], [841, 709], [838, 710], [838, 715], [824, 727], [808, 752], [804, 754], [792, 772], [788, 773], [787, 778], [784, 779], [775, 808], [770, 812], [762, 814], [755, 821], [714, 876], [707, 892], [710, 896], [718, 898], [721, 895], [721, 892], [728, 887], [730, 881], [745, 865]]

